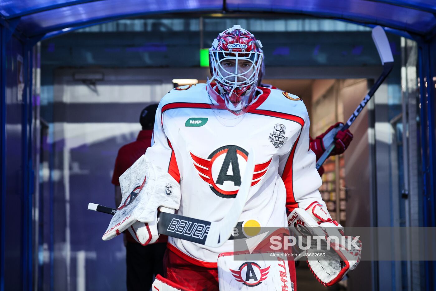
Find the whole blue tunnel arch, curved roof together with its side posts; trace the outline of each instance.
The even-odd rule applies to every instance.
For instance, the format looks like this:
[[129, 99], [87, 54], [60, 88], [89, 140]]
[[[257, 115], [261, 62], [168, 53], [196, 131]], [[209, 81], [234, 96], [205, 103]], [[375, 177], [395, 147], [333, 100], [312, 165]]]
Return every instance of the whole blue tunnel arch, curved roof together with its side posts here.
[[[435, 88], [426, 86], [426, 80], [436, 76], [436, 3], [434, 0], [9, 0], [0, 1], [0, 84], [1, 109], [1, 176], [0, 176], [0, 291], [3, 291], [4, 236], [7, 205], [5, 204], [6, 160], [8, 149], [6, 111], [8, 83], [8, 46], [20, 51], [24, 63], [25, 97], [20, 112], [22, 125], [22, 168], [20, 182], [24, 195], [23, 229], [26, 238], [22, 244], [22, 289], [31, 290], [31, 195], [32, 179], [35, 177], [31, 165], [31, 89], [32, 48], [44, 38], [68, 33], [85, 26], [116, 19], [167, 13], [222, 13], [265, 12], [269, 14], [302, 14], [332, 18], [366, 26], [381, 25], [385, 30], [411, 38], [419, 46], [419, 76], [421, 95], [421, 139], [422, 139], [422, 188], [428, 199], [423, 205], [422, 226], [435, 226], [436, 144], [435, 144]], [[14, 58], [14, 56], [11, 56]], [[430, 266], [431, 267], [431, 266]], [[433, 273], [435, 272], [434, 269]], [[434, 288], [434, 285], [433, 285]], [[429, 288], [431, 290], [431, 287]]]

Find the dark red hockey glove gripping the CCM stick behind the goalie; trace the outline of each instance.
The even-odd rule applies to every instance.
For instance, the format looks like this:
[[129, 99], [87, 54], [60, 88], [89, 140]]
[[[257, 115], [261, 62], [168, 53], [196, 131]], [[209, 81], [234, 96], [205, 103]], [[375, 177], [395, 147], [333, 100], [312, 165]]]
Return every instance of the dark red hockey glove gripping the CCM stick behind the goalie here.
[[317, 160], [322, 156], [326, 150], [326, 146], [334, 141], [334, 149], [330, 152], [329, 156], [340, 155], [345, 152], [350, 142], [353, 140], [353, 135], [349, 129], [343, 132], [339, 129], [344, 126], [342, 122], [330, 126], [323, 134], [318, 135], [315, 139], [310, 139], [310, 149], [317, 155]]

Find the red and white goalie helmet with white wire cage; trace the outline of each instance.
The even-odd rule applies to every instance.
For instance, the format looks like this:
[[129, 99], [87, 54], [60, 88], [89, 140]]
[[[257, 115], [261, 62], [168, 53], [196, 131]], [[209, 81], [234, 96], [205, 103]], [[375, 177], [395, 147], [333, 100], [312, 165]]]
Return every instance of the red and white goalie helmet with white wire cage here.
[[239, 115], [255, 100], [262, 65], [262, 43], [234, 25], [221, 32], [209, 49], [209, 67], [216, 87], [208, 81], [209, 95], [217, 104]]

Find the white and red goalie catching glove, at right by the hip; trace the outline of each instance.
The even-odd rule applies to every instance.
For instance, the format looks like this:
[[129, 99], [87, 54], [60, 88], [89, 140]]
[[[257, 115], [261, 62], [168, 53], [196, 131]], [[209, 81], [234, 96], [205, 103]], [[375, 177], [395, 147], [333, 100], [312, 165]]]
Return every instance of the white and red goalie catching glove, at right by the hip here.
[[344, 236], [343, 227], [330, 218], [323, 204], [313, 203], [307, 210], [295, 208], [288, 216], [288, 225], [299, 236], [297, 239], [305, 240], [306, 246], [310, 243], [310, 248], [305, 250], [307, 263], [324, 286], [341, 281], [358, 265], [362, 243]]

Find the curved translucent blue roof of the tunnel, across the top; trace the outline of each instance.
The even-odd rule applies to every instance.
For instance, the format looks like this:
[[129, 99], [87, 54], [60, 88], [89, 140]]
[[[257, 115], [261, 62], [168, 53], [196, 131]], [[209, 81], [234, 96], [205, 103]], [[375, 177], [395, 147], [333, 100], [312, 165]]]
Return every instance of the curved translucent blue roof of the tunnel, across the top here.
[[416, 35], [436, 33], [436, 6], [431, 0], [11, 0], [0, 15], [32, 38], [65, 28], [124, 17], [172, 12], [255, 12], [306, 14], [381, 25]]

